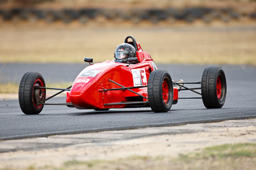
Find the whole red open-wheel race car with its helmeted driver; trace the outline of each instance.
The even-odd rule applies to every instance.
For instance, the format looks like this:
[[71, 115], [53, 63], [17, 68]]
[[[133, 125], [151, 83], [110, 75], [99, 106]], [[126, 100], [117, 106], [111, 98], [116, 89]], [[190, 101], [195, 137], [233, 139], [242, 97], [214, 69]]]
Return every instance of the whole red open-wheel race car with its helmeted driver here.
[[[38, 114], [44, 105], [66, 105], [77, 109], [109, 110], [110, 108], [150, 107], [154, 112], [166, 112], [178, 99], [202, 99], [205, 108], [221, 108], [225, 103], [227, 83], [221, 67], [204, 69], [201, 81], [172, 81], [168, 71], [159, 70], [149, 53], [143, 52], [132, 36], [115, 50], [115, 60], [92, 64], [78, 74], [67, 89], [45, 87], [40, 73], [28, 72], [19, 85], [19, 104], [25, 114]], [[187, 84], [200, 84], [189, 88]], [[46, 97], [46, 90], [60, 90]], [[178, 97], [180, 90], [190, 90], [200, 97]], [[201, 92], [198, 92], [200, 90]], [[61, 92], [67, 92], [66, 103], [46, 103]]]

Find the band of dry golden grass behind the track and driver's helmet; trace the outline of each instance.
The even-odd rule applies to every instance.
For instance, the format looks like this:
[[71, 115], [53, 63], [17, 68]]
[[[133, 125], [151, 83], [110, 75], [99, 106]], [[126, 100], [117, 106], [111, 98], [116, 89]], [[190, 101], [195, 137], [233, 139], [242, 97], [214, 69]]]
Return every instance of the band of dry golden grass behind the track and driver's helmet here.
[[132, 35], [157, 63], [250, 64], [256, 66], [256, 34], [241, 27], [2, 27], [0, 62], [95, 62], [112, 60]]

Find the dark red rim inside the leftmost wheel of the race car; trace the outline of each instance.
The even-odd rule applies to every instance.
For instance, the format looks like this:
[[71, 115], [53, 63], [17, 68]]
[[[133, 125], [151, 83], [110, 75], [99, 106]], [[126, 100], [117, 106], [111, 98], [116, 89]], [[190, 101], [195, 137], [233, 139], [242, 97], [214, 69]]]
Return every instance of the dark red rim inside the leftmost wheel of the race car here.
[[38, 104], [39, 101], [43, 101], [45, 99], [45, 89], [35, 89], [35, 87], [44, 87], [44, 83], [42, 80], [37, 79], [33, 85], [33, 104], [36, 108], [41, 108], [43, 105]]

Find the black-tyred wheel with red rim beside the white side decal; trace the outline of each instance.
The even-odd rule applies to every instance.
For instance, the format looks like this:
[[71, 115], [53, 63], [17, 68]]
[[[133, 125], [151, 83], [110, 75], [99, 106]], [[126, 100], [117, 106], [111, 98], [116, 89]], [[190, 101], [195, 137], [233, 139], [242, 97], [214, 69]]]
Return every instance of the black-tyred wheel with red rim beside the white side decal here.
[[154, 112], [167, 112], [173, 102], [172, 78], [167, 71], [155, 70], [148, 78], [148, 103]]

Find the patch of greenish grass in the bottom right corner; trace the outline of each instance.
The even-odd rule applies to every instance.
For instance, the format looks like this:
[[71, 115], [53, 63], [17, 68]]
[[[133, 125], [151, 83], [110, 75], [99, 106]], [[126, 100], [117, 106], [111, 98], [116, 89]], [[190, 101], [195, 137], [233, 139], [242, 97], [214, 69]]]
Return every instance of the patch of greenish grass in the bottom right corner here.
[[[253, 169], [256, 167], [256, 144], [225, 144], [204, 148], [202, 152], [179, 155], [171, 161], [184, 169]], [[182, 166], [179, 166], [182, 165]]]

